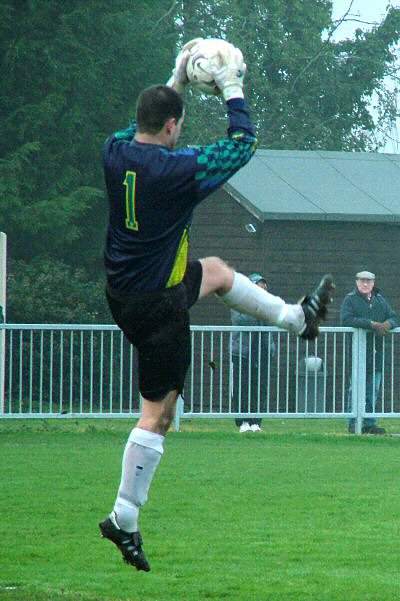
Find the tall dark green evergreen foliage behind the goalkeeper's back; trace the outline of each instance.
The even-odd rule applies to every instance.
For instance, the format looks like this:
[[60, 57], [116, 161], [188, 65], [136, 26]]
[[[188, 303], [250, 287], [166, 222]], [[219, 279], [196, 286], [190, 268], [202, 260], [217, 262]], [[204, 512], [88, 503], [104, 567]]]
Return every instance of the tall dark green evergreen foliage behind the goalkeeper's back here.
[[[142, 87], [171, 69], [169, 8], [169, 1], [2, 2], [0, 229], [9, 243], [10, 321], [109, 319], [98, 293], [107, 218], [101, 151], [132, 118]], [[51, 265], [54, 295], [62, 301], [79, 292], [75, 308], [55, 307], [49, 286], [32, 286], [42, 275], [51, 281]], [[97, 292], [96, 311], [89, 290]], [[24, 303], [20, 295], [35, 298]]]

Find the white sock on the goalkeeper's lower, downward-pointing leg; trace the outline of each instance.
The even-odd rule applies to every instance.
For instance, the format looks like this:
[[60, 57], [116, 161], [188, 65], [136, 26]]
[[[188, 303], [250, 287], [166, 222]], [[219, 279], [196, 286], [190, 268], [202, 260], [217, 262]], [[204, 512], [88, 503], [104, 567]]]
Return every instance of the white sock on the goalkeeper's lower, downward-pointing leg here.
[[139, 508], [147, 501], [163, 449], [164, 436], [134, 428], [122, 459], [121, 483], [111, 519], [121, 530], [138, 530]]

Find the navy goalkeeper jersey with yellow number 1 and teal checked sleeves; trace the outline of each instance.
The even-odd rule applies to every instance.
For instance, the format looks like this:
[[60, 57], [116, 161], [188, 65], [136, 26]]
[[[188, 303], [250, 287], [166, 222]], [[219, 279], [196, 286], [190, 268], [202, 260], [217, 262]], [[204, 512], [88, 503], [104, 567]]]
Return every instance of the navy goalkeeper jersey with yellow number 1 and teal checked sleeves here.
[[107, 280], [126, 294], [182, 281], [194, 207], [226, 182], [255, 152], [256, 138], [242, 99], [227, 103], [228, 138], [171, 151], [134, 139], [136, 125], [104, 148], [109, 198]]

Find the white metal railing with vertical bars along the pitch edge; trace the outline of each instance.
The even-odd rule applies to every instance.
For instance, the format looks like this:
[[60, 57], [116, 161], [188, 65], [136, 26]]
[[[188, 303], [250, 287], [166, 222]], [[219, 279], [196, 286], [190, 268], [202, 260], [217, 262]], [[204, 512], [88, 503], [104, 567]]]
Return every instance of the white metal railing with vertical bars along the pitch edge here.
[[[3, 324], [1, 330], [5, 335], [0, 347], [4, 373], [0, 417], [140, 415], [136, 354], [117, 326]], [[241, 373], [247, 377], [248, 390], [241, 388], [238, 406], [232, 399], [234, 331], [254, 337], [256, 349], [262, 333], [273, 337], [276, 346], [275, 356], [268, 357], [255, 375], [250, 368], [248, 374]], [[400, 328], [385, 337], [381, 363], [373, 366], [382, 372], [382, 385], [375, 411], [368, 417], [400, 417], [399, 333]], [[177, 428], [182, 417], [234, 418], [251, 413], [269, 418], [354, 417], [360, 432], [366, 414], [365, 330], [325, 327], [313, 342], [274, 327], [191, 326], [191, 334], [192, 361], [184, 407], [177, 409]], [[314, 361], [308, 361], [311, 358]], [[250, 411], [254, 377], [256, 409], [252, 405]], [[267, 379], [265, 396], [262, 378]]]

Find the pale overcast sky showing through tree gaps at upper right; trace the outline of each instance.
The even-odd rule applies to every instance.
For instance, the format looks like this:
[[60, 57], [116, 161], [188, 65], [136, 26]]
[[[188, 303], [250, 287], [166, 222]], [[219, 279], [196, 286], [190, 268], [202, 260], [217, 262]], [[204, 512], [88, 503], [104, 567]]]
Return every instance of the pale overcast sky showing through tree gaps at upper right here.
[[[342, 23], [335, 33], [336, 39], [353, 37], [355, 29], [370, 29], [375, 24], [381, 23], [387, 11], [387, 6], [400, 8], [400, 0], [333, 0], [333, 19], [340, 19], [351, 5], [346, 22]], [[347, 20], [354, 19], [354, 20]], [[400, 108], [400, 101], [399, 101]], [[384, 152], [400, 153], [400, 119], [398, 119], [397, 129], [392, 132], [396, 141], [388, 140]]]

